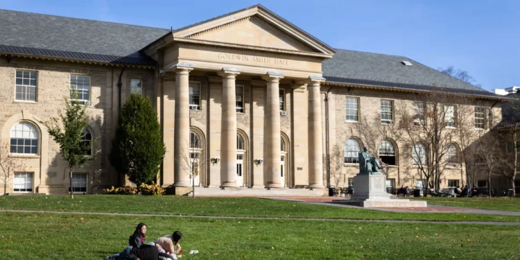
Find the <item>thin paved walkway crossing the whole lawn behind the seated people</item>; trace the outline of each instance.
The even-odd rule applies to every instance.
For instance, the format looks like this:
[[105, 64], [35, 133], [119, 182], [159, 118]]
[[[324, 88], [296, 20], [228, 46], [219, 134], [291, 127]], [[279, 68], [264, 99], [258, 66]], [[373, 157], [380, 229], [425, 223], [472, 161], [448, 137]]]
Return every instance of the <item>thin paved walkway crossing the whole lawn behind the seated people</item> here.
[[130, 214], [130, 213], [105, 213], [105, 212], [71, 212], [71, 211], [46, 211], [46, 210], [18, 210], [0, 209], [0, 212], [14, 213], [40, 213], [40, 214], [78, 214], [78, 215], [102, 215], [102, 216], [144, 216], [144, 217], [171, 217], [171, 218], [225, 218], [225, 219], [251, 219], [251, 220], [299, 220], [299, 221], [334, 221], [334, 222], [368, 222], [368, 223], [429, 223], [429, 224], [467, 224], [467, 225], [512, 225], [520, 226], [520, 222], [485, 222], [485, 221], [422, 221], [422, 220], [358, 220], [358, 219], [333, 219], [333, 218], [262, 218], [262, 217], [232, 217], [232, 216], [191, 216], [168, 214]]

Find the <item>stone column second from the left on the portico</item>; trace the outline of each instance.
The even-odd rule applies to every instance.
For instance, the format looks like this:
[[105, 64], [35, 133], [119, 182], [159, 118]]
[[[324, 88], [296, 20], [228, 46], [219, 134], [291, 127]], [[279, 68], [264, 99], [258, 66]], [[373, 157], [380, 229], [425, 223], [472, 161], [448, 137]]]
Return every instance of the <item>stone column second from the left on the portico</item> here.
[[220, 134], [220, 187], [239, 187], [236, 176], [236, 93], [238, 69], [224, 68], [222, 77], [222, 133]]

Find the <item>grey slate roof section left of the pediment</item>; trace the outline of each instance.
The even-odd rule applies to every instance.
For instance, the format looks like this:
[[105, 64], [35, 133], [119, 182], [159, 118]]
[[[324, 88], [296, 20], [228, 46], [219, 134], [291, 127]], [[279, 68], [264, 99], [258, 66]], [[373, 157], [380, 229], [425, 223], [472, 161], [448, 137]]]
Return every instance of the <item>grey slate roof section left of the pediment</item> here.
[[138, 51], [170, 30], [0, 10], [0, 52], [153, 65]]

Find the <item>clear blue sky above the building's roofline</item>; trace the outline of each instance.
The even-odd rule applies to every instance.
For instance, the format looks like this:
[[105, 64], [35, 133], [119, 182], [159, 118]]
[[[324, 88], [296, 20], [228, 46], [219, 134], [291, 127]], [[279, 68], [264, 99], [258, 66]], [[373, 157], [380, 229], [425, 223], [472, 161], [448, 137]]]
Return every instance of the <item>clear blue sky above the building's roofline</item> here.
[[434, 69], [453, 65], [488, 90], [520, 85], [515, 0], [0, 0], [0, 8], [175, 29], [256, 3], [334, 48], [404, 55]]

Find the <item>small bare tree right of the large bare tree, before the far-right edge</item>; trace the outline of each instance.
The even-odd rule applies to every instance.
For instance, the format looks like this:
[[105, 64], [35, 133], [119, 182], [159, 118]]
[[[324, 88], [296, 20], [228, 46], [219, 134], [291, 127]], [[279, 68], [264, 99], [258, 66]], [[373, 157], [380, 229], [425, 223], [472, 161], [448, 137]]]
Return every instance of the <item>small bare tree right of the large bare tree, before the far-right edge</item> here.
[[503, 171], [503, 165], [507, 159], [503, 156], [501, 139], [496, 132], [489, 132], [478, 139], [476, 143], [476, 168], [483, 171], [487, 176], [487, 196], [491, 198], [491, 177]]

